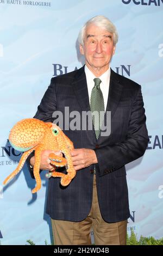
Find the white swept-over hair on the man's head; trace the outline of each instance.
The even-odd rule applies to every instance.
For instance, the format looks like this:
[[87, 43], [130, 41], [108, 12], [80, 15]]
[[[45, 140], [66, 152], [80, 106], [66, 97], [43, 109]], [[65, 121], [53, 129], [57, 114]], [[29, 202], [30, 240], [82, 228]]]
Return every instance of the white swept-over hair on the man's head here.
[[113, 43], [116, 45], [118, 41], [118, 33], [115, 25], [105, 16], [98, 15], [87, 21], [83, 27], [80, 29], [79, 35], [78, 35], [78, 42], [79, 45], [84, 45], [84, 36], [87, 26], [90, 24], [96, 25], [97, 27], [101, 27], [105, 29], [106, 31], [113, 33]]

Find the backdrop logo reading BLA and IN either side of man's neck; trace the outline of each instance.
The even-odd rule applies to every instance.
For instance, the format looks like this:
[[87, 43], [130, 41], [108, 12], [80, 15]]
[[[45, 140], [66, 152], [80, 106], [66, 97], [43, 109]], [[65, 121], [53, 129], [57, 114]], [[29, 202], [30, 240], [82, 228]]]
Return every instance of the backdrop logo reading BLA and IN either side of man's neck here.
[[[163, 1], [163, 0], [162, 0]], [[53, 76], [60, 76], [63, 74], [67, 74], [68, 71], [68, 66], [62, 66], [61, 64], [52, 64], [53, 65]], [[120, 74], [122, 76], [130, 76], [130, 66], [131, 65], [120, 65], [115, 68], [117, 74]], [[74, 68], [74, 70], [77, 70], [77, 66]]]

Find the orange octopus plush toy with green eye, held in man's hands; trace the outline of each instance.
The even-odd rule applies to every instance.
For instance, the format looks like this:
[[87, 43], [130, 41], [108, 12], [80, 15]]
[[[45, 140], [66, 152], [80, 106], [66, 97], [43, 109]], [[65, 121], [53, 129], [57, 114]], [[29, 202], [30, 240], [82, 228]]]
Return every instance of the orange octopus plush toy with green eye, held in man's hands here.
[[56, 172], [54, 167], [53, 172], [47, 174], [48, 178], [60, 177], [62, 186], [70, 184], [71, 180], [76, 175], [73, 168], [73, 162], [70, 151], [73, 149], [72, 141], [62, 132], [59, 126], [52, 123], [45, 123], [39, 119], [27, 118], [18, 121], [12, 127], [9, 135], [9, 142], [12, 147], [18, 151], [24, 151], [17, 168], [3, 182], [6, 184], [22, 169], [27, 157], [35, 150], [34, 176], [36, 187], [32, 193], [37, 192], [41, 188], [40, 178], [40, 161], [41, 152], [43, 150], [60, 151], [65, 157], [57, 156], [53, 153], [49, 154], [49, 160], [55, 167], [66, 166], [67, 174]]

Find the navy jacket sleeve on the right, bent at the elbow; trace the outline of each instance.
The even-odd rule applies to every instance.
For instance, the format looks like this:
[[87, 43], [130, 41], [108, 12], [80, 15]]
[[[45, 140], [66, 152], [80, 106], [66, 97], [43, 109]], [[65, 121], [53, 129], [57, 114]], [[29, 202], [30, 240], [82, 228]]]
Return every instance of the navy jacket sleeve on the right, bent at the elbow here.
[[141, 157], [145, 153], [148, 141], [146, 115], [141, 86], [139, 86], [131, 107], [126, 139], [120, 143], [95, 149], [99, 175], [110, 173]]

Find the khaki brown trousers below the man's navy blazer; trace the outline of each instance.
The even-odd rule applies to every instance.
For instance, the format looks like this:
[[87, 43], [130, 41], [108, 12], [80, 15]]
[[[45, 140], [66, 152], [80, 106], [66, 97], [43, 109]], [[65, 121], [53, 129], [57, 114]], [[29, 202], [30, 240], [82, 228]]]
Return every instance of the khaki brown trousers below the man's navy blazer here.
[[126, 245], [127, 220], [108, 223], [99, 209], [96, 175], [93, 180], [93, 200], [90, 214], [80, 222], [52, 220], [54, 245], [91, 245], [93, 229], [95, 245]]

